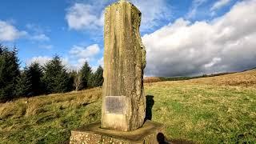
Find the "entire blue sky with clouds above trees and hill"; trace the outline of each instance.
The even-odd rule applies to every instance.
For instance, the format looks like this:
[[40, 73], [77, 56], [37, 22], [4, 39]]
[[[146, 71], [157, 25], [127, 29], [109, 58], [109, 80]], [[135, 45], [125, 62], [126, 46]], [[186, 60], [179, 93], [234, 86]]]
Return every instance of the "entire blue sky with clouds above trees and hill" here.
[[[2, 0], [0, 43], [21, 68], [54, 55], [66, 69], [103, 64], [104, 9], [114, 0]], [[256, 0], [130, 0], [142, 11], [146, 76], [192, 76], [256, 67]]]

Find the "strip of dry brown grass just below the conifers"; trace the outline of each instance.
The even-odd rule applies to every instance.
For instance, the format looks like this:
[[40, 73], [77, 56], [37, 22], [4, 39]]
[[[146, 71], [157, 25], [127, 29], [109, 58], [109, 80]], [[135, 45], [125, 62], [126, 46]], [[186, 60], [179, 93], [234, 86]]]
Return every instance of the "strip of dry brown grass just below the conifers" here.
[[73, 91], [66, 94], [49, 94], [34, 98], [19, 98], [12, 102], [2, 103], [0, 105], [0, 119], [41, 114], [47, 112], [47, 105], [52, 106], [53, 104], [61, 107], [61, 109], [86, 105], [101, 98], [102, 94], [99, 89]]

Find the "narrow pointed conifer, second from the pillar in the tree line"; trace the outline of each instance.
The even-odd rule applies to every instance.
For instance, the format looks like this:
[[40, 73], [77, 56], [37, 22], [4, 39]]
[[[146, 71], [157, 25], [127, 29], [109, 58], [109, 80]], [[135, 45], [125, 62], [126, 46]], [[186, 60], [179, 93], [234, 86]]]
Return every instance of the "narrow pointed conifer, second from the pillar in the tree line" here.
[[90, 74], [92, 74], [91, 72], [91, 68], [88, 64], [88, 62], [85, 62], [85, 64], [82, 66], [82, 70], [80, 70], [81, 73], [81, 81], [82, 81], [82, 86], [81, 89], [86, 89], [90, 86], [89, 78], [90, 78]]

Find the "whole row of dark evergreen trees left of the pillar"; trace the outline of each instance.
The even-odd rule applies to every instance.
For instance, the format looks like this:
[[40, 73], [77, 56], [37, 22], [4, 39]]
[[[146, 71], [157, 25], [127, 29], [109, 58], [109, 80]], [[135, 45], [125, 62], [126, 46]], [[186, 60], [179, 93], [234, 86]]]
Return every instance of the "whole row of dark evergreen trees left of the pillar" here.
[[0, 102], [102, 86], [102, 66], [92, 72], [85, 62], [81, 70], [69, 71], [62, 65], [61, 58], [54, 56], [44, 66], [34, 62], [20, 70], [17, 54], [16, 47], [10, 50], [0, 45]]

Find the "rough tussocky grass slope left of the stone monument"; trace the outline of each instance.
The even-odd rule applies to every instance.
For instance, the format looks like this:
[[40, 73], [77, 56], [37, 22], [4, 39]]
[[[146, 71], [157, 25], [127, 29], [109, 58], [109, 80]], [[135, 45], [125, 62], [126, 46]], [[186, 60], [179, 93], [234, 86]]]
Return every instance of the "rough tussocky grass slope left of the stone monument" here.
[[100, 88], [20, 98], [0, 105], [0, 143], [63, 143], [70, 130], [97, 122]]

